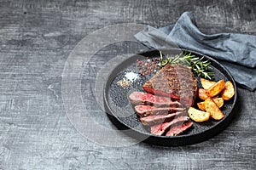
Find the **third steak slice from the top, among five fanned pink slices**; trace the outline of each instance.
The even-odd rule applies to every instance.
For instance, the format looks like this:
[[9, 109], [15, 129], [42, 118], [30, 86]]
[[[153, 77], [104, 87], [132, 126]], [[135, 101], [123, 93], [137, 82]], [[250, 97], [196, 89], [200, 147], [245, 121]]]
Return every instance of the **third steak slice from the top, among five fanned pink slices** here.
[[167, 115], [152, 115], [140, 118], [140, 121], [145, 126], [152, 126], [154, 124], [160, 124], [162, 122], [170, 122], [172, 119], [177, 118], [178, 116], [184, 116], [186, 114], [183, 112], [175, 112]]

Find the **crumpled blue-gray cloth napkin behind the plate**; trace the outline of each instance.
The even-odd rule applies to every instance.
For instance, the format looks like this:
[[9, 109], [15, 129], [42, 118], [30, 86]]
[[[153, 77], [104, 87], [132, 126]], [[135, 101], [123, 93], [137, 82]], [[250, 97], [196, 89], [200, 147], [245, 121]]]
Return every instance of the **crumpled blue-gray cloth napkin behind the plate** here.
[[148, 48], [178, 46], [206, 54], [230, 71], [242, 88], [256, 88], [256, 36], [236, 33], [206, 35], [196, 27], [195, 17], [185, 12], [175, 25], [156, 29], [147, 26], [134, 36]]

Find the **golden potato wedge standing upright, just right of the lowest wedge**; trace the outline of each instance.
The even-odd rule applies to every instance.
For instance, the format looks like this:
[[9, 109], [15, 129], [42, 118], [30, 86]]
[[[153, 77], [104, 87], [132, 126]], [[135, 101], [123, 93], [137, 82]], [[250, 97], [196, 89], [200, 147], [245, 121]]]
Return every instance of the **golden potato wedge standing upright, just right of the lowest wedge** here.
[[224, 114], [222, 111], [218, 109], [218, 106], [214, 103], [211, 98], [207, 98], [205, 100], [206, 111], [210, 113], [211, 117], [215, 120], [221, 120], [224, 118]]

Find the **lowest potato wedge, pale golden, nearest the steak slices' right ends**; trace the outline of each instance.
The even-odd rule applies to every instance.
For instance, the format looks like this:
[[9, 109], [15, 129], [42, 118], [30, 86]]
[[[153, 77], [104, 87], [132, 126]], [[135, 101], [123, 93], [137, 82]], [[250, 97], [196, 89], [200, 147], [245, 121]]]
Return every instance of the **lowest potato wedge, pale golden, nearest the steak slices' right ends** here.
[[194, 107], [189, 107], [188, 111], [189, 117], [195, 122], [205, 122], [208, 121], [210, 118], [210, 113], [205, 111], [199, 111]]

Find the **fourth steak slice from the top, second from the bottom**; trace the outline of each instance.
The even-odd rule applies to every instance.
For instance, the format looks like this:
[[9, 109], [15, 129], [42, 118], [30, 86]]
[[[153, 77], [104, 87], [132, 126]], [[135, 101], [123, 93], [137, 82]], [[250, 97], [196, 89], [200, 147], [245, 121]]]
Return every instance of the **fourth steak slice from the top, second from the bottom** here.
[[151, 133], [156, 135], [162, 135], [166, 132], [166, 130], [172, 125], [176, 125], [177, 123], [182, 124], [183, 122], [189, 121], [189, 116], [179, 116], [176, 119], [173, 119], [171, 122], [163, 122], [151, 127]]

